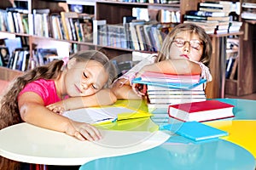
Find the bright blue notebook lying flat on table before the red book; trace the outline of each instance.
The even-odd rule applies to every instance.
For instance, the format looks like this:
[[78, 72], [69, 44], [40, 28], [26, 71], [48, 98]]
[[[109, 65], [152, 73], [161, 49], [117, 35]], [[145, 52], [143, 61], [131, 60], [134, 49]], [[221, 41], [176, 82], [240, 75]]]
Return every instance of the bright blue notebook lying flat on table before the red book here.
[[[166, 125], [162, 127], [162, 129], [169, 130], [168, 128], [172, 127], [172, 125]], [[210, 127], [201, 122], [182, 122], [180, 127], [177, 128], [175, 132], [185, 138], [192, 139], [196, 142], [207, 140], [207, 139], [218, 139], [221, 136], [227, 136], [229, 133], [220, 130], [215, 127]]]

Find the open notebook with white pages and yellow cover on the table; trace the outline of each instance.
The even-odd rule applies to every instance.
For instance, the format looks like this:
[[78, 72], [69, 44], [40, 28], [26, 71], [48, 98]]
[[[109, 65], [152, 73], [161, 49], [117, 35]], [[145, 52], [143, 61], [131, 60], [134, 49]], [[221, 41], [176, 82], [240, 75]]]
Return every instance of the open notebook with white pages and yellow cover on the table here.
[[124, 106], [104, 106], [65, 111], [63, 116], [67, 116], [77, 122], [101, 124], [153, 115], [145, 111], [135, 110]]

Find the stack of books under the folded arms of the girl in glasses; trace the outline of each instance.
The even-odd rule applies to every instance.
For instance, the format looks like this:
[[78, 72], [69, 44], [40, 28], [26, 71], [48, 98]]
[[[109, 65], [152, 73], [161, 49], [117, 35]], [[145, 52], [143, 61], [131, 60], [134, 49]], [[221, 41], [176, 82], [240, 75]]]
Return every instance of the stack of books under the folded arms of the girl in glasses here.
[[147, 84], [148, 111], [167, 112], [169, 105], [205, 101], [205, 79], [200, 75], [171, 75], [145, 72], [133, 83]]

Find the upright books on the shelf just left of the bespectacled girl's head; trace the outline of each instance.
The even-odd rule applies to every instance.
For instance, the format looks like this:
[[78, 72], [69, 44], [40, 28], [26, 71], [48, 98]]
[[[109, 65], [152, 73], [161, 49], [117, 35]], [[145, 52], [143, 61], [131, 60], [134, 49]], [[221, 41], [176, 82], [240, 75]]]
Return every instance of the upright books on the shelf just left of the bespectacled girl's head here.
[[123, 25], [109, 25], [106, 20], [93, 20], [93, 25], [96, 29], [93, 34], [96, 45], [157, 52], [167, 33], [177, 23], [132, 20]]

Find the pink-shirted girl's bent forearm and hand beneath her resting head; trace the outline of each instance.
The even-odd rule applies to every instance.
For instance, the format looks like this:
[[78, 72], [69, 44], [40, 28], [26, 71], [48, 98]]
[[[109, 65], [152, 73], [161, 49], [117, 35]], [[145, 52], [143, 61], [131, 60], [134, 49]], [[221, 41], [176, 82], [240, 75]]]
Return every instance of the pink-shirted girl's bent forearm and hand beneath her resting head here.
[[113, 105], [114, 102], [116, 102], [116, 96], [110, 89], [105, 88], [90, 96], [63, 99], [55, 104], [47, 105], [47, 108], [50, 111], [62, 113], [63, 111], [70, 111], [84, 107]]

